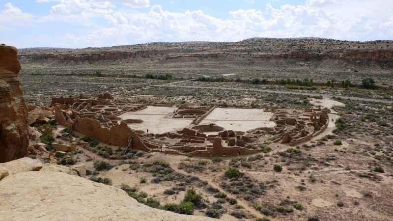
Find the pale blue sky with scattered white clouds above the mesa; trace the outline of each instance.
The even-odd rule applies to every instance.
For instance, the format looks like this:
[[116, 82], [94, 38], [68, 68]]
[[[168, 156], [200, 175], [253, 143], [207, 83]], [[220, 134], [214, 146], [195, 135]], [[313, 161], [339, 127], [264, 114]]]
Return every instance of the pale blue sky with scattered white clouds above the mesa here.
[[310, 36], [393, 40], [393, 2], [0, 0], [0, 43], [17, 48]]

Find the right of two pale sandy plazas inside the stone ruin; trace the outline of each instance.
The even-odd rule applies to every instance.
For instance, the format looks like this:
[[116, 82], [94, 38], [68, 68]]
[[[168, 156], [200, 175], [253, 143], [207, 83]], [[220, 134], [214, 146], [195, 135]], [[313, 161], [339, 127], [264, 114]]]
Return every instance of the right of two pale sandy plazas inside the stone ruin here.
[[275, 122], [270, 121], [272, 115], [272, 112], [264, 112], [262, 109], [216, 108], [199, 125], [215, 123], [225, 130], [248, 131], [276, 126]]

